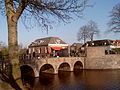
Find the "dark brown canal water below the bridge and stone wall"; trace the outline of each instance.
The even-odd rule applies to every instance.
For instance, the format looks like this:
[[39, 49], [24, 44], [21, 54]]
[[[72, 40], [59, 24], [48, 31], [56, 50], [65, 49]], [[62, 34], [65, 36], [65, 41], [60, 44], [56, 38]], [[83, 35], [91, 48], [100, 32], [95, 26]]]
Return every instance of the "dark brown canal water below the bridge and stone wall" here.
[[76, 70], [23, 77], [28, 90], [120, 90], [120, 70]]

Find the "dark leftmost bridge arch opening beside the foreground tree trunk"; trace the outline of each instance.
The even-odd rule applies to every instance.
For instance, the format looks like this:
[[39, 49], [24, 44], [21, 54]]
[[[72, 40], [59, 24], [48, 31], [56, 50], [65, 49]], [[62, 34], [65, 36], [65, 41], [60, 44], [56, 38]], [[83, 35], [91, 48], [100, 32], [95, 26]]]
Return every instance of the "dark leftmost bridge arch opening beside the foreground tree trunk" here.
[[28, 76], [35, 77], [34, 69], [29, 65], [20, 66], [20, 70], [21, 70], [21, 75], [28, 75]]

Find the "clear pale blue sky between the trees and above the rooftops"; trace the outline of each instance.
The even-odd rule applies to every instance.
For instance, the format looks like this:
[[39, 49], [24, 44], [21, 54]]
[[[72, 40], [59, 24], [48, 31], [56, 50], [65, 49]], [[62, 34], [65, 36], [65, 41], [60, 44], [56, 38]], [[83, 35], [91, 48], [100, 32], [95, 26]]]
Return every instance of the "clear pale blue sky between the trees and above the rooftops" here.
[[[95, 37], [95, 39], [120, 39], [119, 34], [105, 33], [108, 29], [107, 23], [110, 20], [109, 15], [113, 6], [120, 3], [120, 0], [89, 0], [89, 4], [94, 4], [93, 8], [87, 8], [83, 13], [83, 18], [78, 18], [69, 24], [57, 24], [50, 29], [48, 34], [46, 31], [41, 31], [41, 28], [34, 27], [31, 30], [26, 30], [26, 28], [19, 23], [18, 25], [18, 39], [19, 43], [24, 46], [28, 46], [31, 42], [36, 39], [44, 37], [59, 37], [66, 43], [72, 44], [77, 41], [77, 32], [79, 28], [89, 20], [97, 22], [98, 28], [100, 29], [100, 36]], [[7, 24], [6, 17], [0, 15], [0, 41], [7, 44]]]

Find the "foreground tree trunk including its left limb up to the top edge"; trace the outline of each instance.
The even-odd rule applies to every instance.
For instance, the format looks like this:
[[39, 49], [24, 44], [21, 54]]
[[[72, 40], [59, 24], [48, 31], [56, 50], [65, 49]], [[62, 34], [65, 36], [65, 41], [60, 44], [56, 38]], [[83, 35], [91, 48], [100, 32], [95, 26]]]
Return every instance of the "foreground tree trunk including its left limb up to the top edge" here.
[[[17, 38], [17, 22], [15, 18], [14, 8], [11, 0], [5, 0], [6, 16], [8, 24], [8, 46], [9, 46], [9, 59], [12, 65], [12, 73], [14, 81], [18, 85], [16, 89], [23, 88], [21, 81], [21, 72], [18, 57], [18, 38]], [[15, 87], [14, 87], [15, 88]]]

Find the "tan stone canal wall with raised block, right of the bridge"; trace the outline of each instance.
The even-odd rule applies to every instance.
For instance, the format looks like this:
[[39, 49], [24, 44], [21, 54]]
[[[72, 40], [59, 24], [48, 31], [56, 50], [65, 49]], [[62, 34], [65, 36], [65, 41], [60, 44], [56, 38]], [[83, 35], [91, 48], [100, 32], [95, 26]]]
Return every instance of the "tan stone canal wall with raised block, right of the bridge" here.
[[88, 47], [85, 69], [120, 69], [120, 55], [105, 55], [105, 47]]

